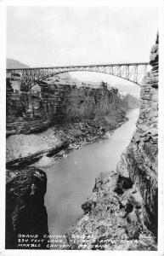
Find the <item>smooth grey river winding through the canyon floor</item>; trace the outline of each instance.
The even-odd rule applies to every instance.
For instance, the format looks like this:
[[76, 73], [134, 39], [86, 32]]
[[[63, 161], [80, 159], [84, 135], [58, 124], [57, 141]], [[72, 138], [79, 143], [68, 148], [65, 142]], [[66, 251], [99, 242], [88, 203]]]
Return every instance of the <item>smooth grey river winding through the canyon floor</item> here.
[[67, 158], [45, 169], [48, 176], [45, 205], [50, 235], [65, 235], [82, 215], [81, 205], [92, 192], [95, 177], [99, 172], [116, 170], [122, 151], [133, 137], [138, 115], [139, 109], [130, 110], [129, 120], [108, 139], [73, 150]]

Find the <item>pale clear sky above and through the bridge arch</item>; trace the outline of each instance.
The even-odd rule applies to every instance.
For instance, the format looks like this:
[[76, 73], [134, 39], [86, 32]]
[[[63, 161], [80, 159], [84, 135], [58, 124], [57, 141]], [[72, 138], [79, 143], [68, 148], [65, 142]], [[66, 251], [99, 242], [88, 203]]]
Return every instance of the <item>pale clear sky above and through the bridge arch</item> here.
[[149, 5], [9, 6], [7, 57], [30, 67], [149, 61], [157, 29], [157, 8]]

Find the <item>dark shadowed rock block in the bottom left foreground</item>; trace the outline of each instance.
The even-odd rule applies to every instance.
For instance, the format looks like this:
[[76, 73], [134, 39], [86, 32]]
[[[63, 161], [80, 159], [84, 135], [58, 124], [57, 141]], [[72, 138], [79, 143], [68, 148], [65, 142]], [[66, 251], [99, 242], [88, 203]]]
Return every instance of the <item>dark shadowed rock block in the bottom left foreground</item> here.
[[8, 249], [46, 249], [48, 216], [44, 206], [47, 177], [36, 167], [7, 171], [6, 242]]

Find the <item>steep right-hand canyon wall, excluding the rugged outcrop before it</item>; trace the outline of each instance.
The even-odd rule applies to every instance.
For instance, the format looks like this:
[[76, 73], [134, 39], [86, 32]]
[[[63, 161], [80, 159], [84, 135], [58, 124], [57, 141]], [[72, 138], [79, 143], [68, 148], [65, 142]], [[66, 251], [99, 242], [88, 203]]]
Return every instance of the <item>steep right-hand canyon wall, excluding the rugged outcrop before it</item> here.
[[157, 172], [158, 172], [158, 39], [150, 52], [150, 73], [144, 79], [140, 93], [137, 129], [117, 172], [130, 177], [139, 189], [150, 218], [144, 222], [157, 235]]

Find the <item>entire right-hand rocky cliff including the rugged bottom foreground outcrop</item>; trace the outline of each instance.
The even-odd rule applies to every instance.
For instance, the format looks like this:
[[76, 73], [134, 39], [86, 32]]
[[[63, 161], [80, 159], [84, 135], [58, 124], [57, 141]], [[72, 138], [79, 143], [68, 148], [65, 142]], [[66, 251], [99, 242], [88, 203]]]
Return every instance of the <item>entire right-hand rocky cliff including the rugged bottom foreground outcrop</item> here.
[[71, 249], [156, 250], [158, 39], [150, 65], [132, 141], [116, 171], [96, 178], [82, 218], [67, 234]]

